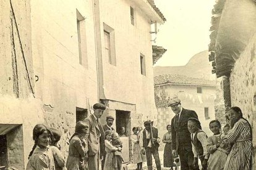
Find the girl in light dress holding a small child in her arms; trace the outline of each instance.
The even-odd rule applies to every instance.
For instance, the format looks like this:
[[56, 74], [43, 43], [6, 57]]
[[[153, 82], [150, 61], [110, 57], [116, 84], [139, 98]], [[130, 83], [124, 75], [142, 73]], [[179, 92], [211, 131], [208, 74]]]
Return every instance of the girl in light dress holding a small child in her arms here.
[[114, 147], [111, 144], [111, 140], [112, 140], [112, 132], [107, 130], [105, 131], [105, 150], [106, 150], [106, 159], [105, 159], [105, 164], [104, 164], [104, 170], [115, 170], [117, 168], [114, 168], [113, 166], [113, 162], [112, 162], [112, 158], [114, 155], [114, 152], [116, 150], [121, 151], [122, 148], [120, 147]]

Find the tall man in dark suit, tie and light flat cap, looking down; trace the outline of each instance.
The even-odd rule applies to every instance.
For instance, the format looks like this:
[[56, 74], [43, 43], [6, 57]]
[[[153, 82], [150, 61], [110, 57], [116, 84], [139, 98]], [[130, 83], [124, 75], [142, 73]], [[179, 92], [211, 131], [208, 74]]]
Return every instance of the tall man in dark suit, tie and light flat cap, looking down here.
[[[179, 155], [181, 160], [181, 170], [192, 170], [194, 154], [190, 141], [190, 132], [187, 129], [187, 120], [189, 118], [197, 118], [197, 113], [194, 110], [182, 108], [181, 100], [177, 97], [170, 100], [168, 105], [176, 114], [171, 119], [171, 138], [173, 146], [173, 155]], [[202, 129], [202, 127], [199, 127]]]

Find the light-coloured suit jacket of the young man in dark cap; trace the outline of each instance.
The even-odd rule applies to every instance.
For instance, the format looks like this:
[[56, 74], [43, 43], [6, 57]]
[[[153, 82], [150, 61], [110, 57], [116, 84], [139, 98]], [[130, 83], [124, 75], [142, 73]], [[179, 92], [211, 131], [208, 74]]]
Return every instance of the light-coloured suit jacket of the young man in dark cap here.
[[[105, 138], [105, 132], [103, 131], [103, 128], [99, 122], [97, 123], [95, 117], [93, 115], [88, 116], [84, 119], [85, 123], [88, 125], [88, 155], [93, 156], [96, 155], [101, 149], [103, 149], [102, 146], [104, 143]], [[105, 148], [104, 148], [105, 149]]]

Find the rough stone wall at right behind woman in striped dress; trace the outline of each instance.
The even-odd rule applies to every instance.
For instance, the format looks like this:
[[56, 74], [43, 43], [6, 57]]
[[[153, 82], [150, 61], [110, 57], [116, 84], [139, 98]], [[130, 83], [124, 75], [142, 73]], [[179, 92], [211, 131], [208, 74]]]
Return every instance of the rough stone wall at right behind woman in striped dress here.
[[230, 91], [232, 106], [240, 107], [244, 118], [252, 125], [254, 161], [253, 169], [256, 169], [256, 34], [250, 39], [249, 44], [231, 72]]

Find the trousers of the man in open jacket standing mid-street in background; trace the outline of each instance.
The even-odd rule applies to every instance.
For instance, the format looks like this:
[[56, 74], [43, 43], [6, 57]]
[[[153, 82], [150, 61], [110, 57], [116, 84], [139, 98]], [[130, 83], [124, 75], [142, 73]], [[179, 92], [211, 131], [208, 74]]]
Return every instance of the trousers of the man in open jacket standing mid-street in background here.
[[148, 170], [153, 170], [152, 155], [155, 158], [156, 169], [161, 170], [161, 163], [160, 163], [158, 149], [156, 149], [156, 148], [145, 148], [145, 151], [146, 151], [146, 157], [147, 157]]

